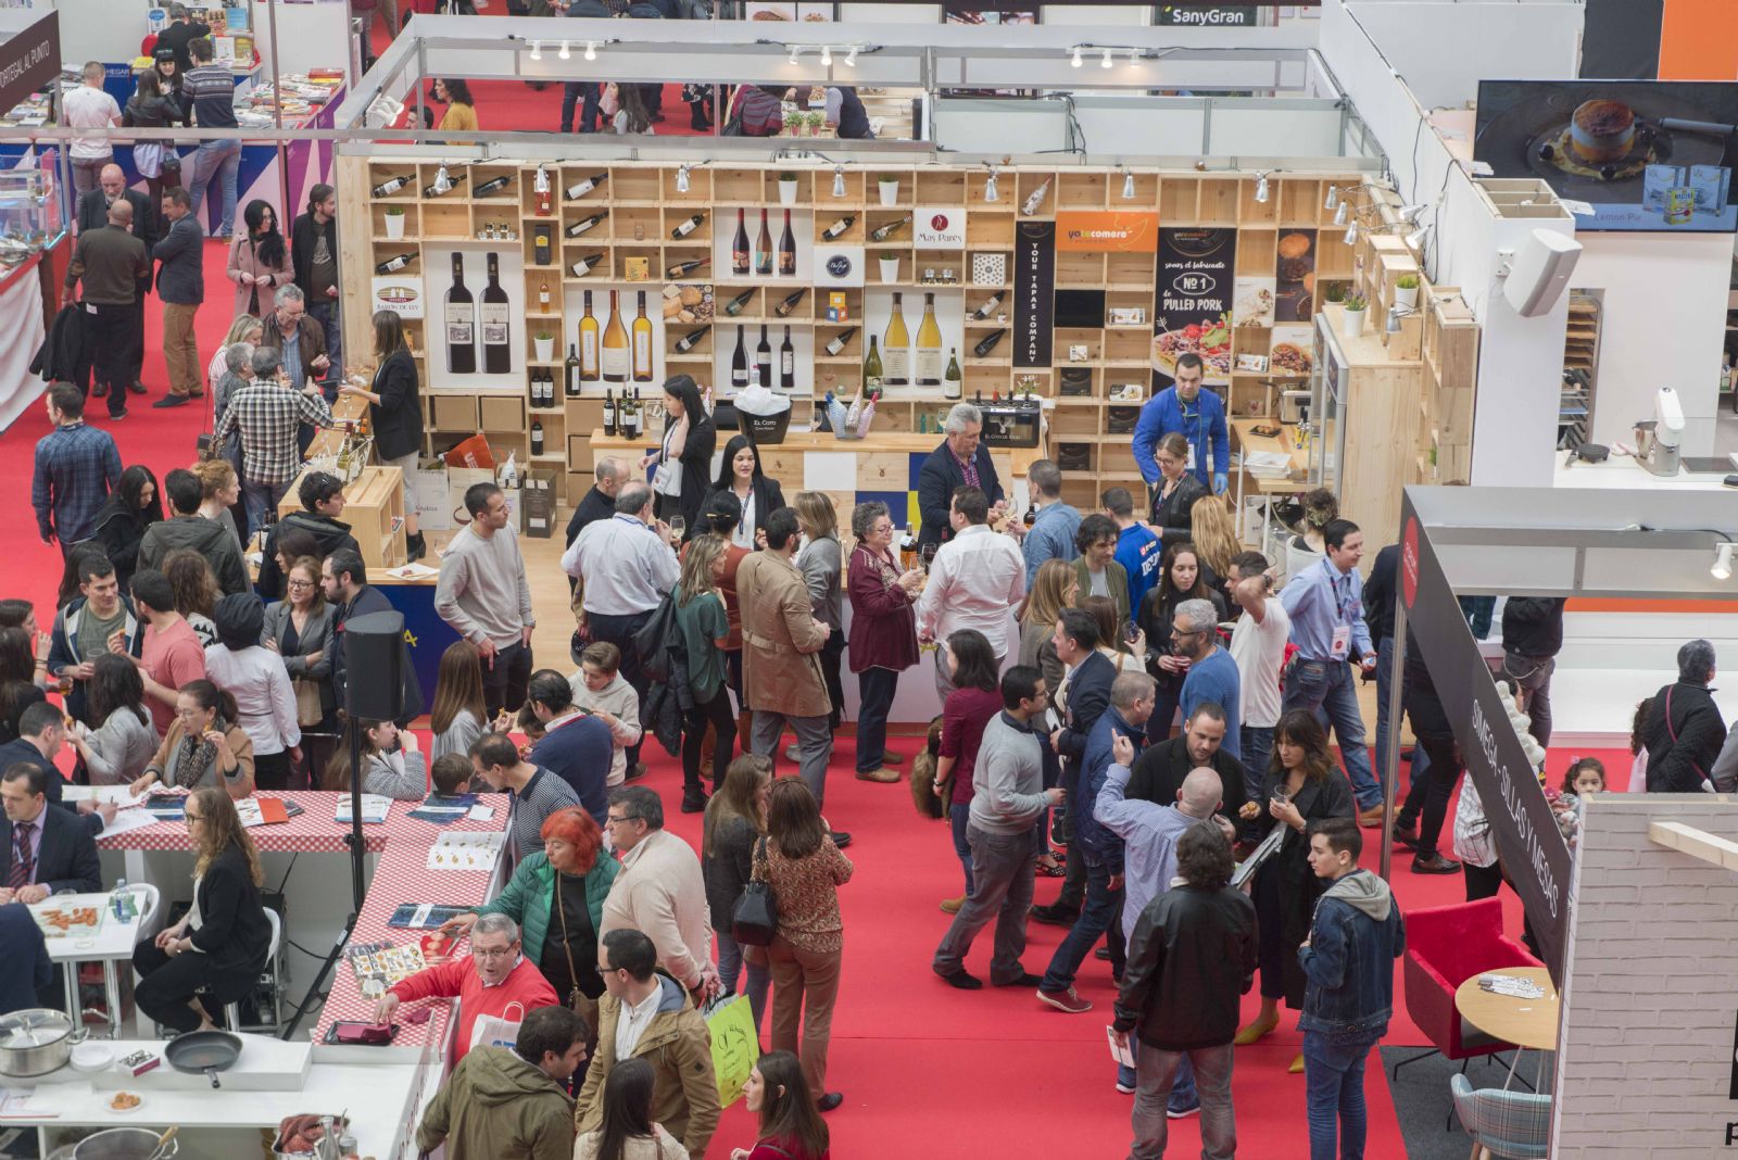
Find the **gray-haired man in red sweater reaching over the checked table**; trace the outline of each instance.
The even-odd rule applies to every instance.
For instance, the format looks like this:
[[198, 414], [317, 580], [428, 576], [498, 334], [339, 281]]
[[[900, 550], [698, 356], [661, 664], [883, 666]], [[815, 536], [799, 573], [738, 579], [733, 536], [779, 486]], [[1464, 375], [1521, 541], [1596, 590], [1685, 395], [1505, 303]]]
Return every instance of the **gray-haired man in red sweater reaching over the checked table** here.
[[[537, 1007], [554, 1007], [554, 988], [520, 953], [520, 927], [506, 915], [483, 915], [471, 927], [471, 957], [417, 971], [381, 995], [375, 1019], [391, 1023], [401, 1002], [459, 997], [459, 1035], [452, 1066], [478, 1045], [513, 1047], [518, 1025]], [[511, 1026], [502, 1028], [501, 1023]]]

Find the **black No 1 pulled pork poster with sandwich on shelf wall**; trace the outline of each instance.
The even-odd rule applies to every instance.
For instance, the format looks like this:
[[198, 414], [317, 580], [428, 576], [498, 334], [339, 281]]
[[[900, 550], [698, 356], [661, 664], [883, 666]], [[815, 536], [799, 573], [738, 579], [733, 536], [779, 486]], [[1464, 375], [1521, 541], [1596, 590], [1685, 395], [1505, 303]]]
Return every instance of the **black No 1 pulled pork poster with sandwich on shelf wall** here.
[[1199, 354], [1204, 382], [1231, 384], [1236, 229], [1159, 229], [1152, 297], [1152, 389], [1177, 380], [1177, 359]]

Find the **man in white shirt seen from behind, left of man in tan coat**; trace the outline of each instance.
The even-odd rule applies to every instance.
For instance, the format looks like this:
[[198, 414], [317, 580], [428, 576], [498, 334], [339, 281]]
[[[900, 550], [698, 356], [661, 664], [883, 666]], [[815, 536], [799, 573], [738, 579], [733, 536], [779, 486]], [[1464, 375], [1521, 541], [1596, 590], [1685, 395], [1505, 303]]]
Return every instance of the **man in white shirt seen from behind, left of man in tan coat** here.
[[[580, 608], [593, 641], [608, 641], [622, 653], [620, 674], [634, 686], [640, 703], [647, 677], [640, 667], [634, 634], [645, 627], [666, 592], [676, 587], [681, 566], [673, 550], [676, 537], [652, 519], [652, 488], [634, 481], [615, 495], [615, 516], [586, 524], [561, 554], [561, 571], [584, 589]], [[640, 764], [640, 743], [627, 747], [627, 768]], [[638, 774], [634, 774], [638, 776]]]

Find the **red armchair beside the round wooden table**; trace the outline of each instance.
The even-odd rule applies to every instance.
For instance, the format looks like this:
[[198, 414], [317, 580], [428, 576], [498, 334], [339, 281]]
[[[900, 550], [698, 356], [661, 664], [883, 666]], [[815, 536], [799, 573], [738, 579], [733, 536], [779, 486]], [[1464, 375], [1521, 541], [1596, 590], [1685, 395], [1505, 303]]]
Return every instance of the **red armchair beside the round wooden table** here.
[[1503, 934], [1503, 906], [1496, 898], [1408, 913], [1406, 1014], [1436, 1047], [1394, 1064], [1394, 1073], [1436, 1052], [1465, 1061], [1510, 1051], [1512, 1044], [1495, 1040], [1460, 1018], [1455, 992], [1484, 971], [1538, 966], [1543, 964], [1526, 946]]

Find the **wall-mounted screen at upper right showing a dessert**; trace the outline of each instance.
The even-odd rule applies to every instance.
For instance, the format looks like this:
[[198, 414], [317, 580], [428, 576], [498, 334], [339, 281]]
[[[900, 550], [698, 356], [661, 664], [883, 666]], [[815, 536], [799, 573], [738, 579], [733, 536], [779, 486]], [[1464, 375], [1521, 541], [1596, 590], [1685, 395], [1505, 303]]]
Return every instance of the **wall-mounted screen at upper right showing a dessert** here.
[[1735, 146], [1738, 83], [1479, 82], [1474, 160], [1585, 201], [1576, 229], [1738, 231]]

